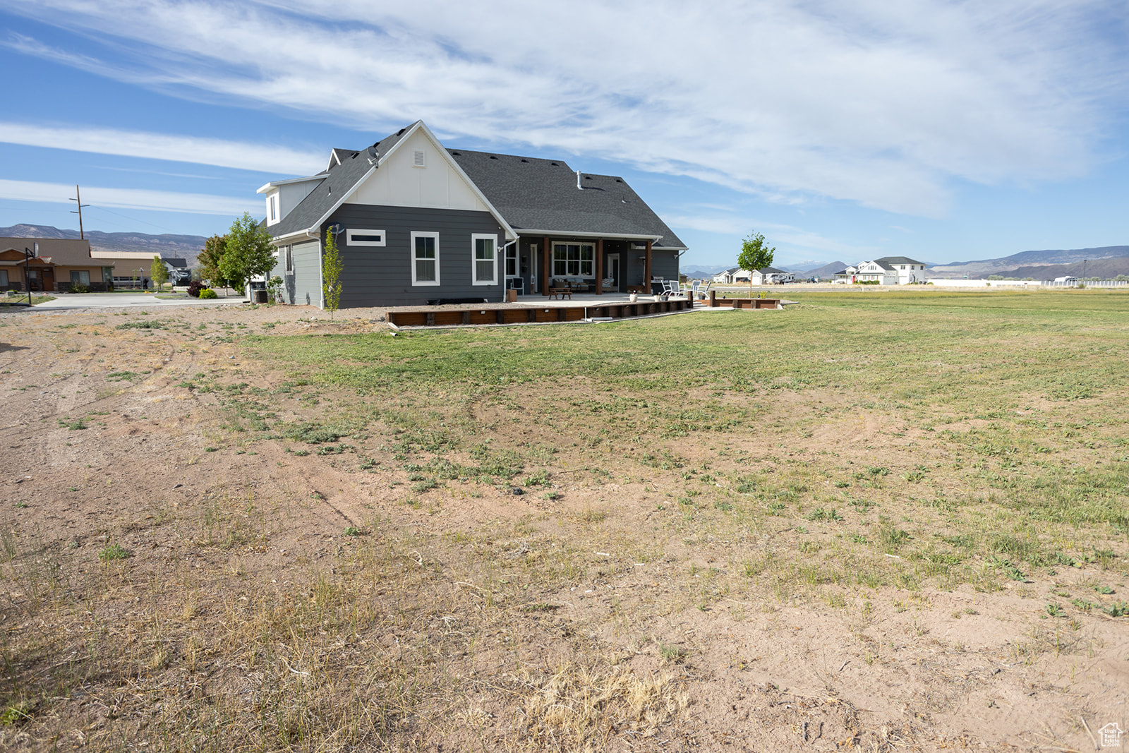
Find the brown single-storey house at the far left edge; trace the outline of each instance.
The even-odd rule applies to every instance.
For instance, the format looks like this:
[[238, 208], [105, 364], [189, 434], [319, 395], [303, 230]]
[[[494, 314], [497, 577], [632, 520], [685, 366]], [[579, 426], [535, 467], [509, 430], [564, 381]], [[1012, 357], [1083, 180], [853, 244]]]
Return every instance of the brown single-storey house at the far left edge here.
[[[35, 254], [26, 264], [25, 249]], [[0, 290], [26, 292], [28, 283], [42, 292], [68, 292], [72, 284], [106, 290], [113, 266], [112, 261], [90, 257], [89, 240], [0, 238]]]

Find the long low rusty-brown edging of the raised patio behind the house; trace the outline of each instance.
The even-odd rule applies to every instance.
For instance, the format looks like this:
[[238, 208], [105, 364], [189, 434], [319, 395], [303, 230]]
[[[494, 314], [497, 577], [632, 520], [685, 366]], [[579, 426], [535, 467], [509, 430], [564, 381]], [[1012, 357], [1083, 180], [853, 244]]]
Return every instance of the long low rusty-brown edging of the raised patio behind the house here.
[[583, 322], [584, 319], [620, 319], [655, 314], [669, 314], [693, 308], [685, 298], [640, 300], [637, 303], [593, 303], [569, 306], [482, 306], [435, 310], [401, 308], [390, 310], [388, 324], [405, 326], [463, 326], [469, 324], [536, 324], [548, 322]]

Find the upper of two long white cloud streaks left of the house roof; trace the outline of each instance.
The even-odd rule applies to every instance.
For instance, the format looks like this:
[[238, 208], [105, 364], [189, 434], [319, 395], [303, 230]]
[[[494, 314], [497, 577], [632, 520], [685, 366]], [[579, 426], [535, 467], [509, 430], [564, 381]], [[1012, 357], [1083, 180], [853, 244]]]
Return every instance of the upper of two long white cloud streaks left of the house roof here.
[[323, 154], [297, 151], [287, 147], [68, 125], [0, 122], [0, 141], [99, 155], [217, 165], [271, 174], [310, 175], [325, 163]]

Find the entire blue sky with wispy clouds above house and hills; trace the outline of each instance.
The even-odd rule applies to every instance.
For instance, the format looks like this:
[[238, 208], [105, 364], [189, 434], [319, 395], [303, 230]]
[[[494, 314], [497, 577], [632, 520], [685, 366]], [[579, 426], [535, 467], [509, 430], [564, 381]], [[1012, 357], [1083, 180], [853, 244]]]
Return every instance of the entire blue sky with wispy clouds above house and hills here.
[[5, 0], [0, 227], [224, 233], [423, 119], [733, 264], [1129, 244], [1129, 3]]

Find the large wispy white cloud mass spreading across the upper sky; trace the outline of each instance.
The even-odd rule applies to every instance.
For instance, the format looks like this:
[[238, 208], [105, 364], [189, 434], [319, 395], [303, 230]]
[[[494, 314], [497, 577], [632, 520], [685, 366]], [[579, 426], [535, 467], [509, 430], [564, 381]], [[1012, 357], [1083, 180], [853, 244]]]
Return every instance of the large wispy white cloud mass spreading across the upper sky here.
[[7, 7], [114, 45], [9, 42], [27, 54], [185, 96], [378, 135], [423, 117], [474, 143], [929, 216], [946, 211], [954, 180], [1085, 172], [1129, 80], [1115, 35], [1095, 33], [1119, 17], [1114, 0]]

